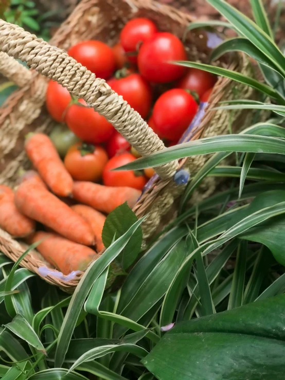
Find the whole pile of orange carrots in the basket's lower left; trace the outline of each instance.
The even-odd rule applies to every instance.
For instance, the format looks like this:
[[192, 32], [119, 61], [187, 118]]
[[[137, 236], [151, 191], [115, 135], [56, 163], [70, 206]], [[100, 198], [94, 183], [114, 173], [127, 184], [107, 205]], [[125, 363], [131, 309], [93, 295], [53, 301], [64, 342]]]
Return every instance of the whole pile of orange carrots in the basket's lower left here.
[[25, 150], [35, 170], [14, 191], [0, 185], [0, 227], [29, 244], [41, 241], [41, 255], [64, 275], [84, 270], [104, 248], [105, 214], [124, 202], [133, 207], [140, 191], [74, 181], [45, 134], [29, 134]]

